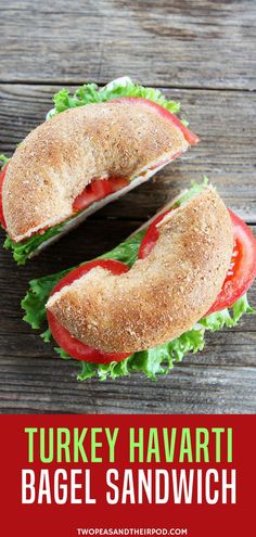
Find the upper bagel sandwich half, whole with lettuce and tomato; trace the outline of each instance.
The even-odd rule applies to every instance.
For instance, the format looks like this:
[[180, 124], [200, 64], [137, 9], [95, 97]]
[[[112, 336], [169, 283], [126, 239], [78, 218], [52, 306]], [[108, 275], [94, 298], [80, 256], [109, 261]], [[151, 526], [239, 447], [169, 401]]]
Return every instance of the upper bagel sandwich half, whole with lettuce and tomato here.
[[1, 174], [0, 220], [17, 263], [197, 143], [178, 107], [127, 78], [55, 95]]

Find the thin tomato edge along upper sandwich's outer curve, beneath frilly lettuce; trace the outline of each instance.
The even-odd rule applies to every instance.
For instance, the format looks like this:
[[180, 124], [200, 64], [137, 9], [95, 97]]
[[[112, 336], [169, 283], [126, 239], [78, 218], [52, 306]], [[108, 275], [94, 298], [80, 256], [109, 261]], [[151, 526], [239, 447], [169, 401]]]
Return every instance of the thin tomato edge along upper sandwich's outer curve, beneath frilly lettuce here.
[[152, 110], [154, 110], [157, 114], [162, 115], [168, 122], [172, 123], [176, 127], [178, 127], [179, 130], [183, 133], [184, 139], [190, 145], [195, 145], [200, 141], [200, 138], [194, 135], [191, 130], [187, 129], [187, 127], [178, 119], [178, 117], [175, 114], [171, 114], [168, 110], [164, 108], [164, 106], [161, 106], [159, 104], [154, 103], [153, 101], [150, 101], [149, 99], [143, 99], [142, 97], [121, 97], [120, 99], [115, 99], [111, 101], [111, 103], [117, 103], [117, 102], [129, 102], [130, 104], [142, 104], [144, 106], [148, 106]]

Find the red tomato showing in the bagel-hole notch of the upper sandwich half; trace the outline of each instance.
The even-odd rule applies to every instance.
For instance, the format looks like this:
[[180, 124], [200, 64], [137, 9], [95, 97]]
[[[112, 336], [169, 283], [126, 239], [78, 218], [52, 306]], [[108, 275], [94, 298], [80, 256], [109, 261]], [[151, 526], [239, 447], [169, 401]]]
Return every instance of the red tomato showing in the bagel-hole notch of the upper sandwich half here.
[[110, 177], [107, 179], [93, 179], [85, 190], [79, 194], [74, 203], [74, 210], [82, 210], [93, 202], [102, 200], [108, 194], [123, 189], [129, 183], [127, 179], [123, 177]]

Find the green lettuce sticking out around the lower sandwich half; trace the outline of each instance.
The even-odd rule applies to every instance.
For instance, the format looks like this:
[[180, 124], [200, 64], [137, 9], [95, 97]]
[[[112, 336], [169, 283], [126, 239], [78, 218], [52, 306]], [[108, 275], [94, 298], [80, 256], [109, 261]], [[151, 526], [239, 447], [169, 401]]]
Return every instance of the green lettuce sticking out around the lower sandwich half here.
[[[207, 183], [205, 178], [203, 184], [193, 183], [192, 188], [182, 193], [175, 205], [184, 203]], [[99, 258], [117, 259], [129, 266], [132, 266], [138, 257], [139, 247], [146, 232], [146, 228], [139, 230], [127, 241], [120, 243], [114, 250], [104, 254]], [[84, 264], [82, 264], [84, 265]], [[42, 329], [46, 323], [46, 303], [48, 297], [56, 283], [68, 273], [72, 269], [63, 270], [56, 274], [47, 276], [37, 280], [33, 280], [29, 283], [29, 290], [22, 302], [22, 307], [25, 310], [24, 320], [28, 322], [34, 329]], [[223, 309], [216, 314], [210, 314], [204, 319], [201, 319], [196, 325], [180, 335], [179, 337], [161, 345], [155, 348], [135, 353], [125, 360], [119, 362], [111, 362], [104, 365], [79, 362], [81, 368], [77, 379], [85, 381], [94, 375], [98, 375], [100, 380], [104, 381], [107, 378], [117, 379], [118, 376], [125, 376], [133, 372], [141, 372], [151, 380], [156, 380], [157, 375], [167, 374], [172, 369], [175, 362], [181, 361], [188, 353], [197, 353], [202, 350], [205, 345], [205, 332], [207, 330], [215, 331], [220, 330], [223, 327], [235, 327], [243, 314], [254, 312], [251, 308], [246, 294], [239, 298], [230, 309]], [[51, 341], [51, 331], [48, 328], [41, 337], [46, 343]], [[56, 353], [63, 359], [69, 359], [69, 356], [60, 347], [55, 347]]]

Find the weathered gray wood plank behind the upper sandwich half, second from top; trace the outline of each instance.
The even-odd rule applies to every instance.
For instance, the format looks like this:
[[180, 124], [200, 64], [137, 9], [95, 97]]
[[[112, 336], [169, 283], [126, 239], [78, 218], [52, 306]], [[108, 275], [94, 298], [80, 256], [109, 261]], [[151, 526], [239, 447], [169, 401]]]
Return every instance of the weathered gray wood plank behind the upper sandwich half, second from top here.
[[[0, 85], [0, 151], [12, 154], [16, 144], [44, 119], [60, 87]], [[256, 94], [244, 91], [164, 89], [179, 100], [182, 113], [202, 141], [181, 159], [99, 217], [146, 219], [167, 199], [204, 175], [218, 187], [227, 204], [247, 221], [256, 221]]]

